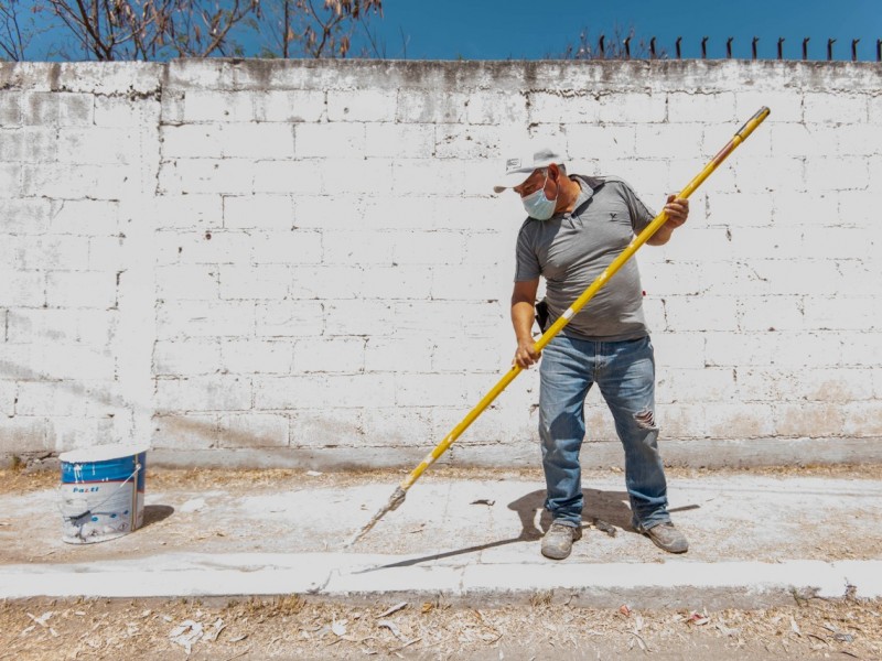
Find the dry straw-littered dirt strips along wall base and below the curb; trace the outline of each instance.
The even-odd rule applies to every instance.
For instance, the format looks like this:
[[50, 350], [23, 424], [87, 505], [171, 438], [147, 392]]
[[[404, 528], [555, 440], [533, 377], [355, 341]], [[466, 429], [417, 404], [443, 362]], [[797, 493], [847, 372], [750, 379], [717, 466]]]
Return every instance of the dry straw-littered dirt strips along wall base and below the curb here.
[[[312, 476], [326, 486], [394, 484], [406, 472]], [[538, 470], [444, 467], [424, 480], [519, 477]], [[668, 469], [671, 478], [720, 470]], [[880, 479], [882, 466], [740, 469], [765, 476]], [[235, 487], [297, 480], [297, 470], [151, 470], [151, 488], [186, 481]], [[590, 475], [587, 475], [590, 478]], [[0, 470], [0, 492], [57, 484], [57, 472]], [[0, 516], [2, 523], [2, 516]], [[796, 599], [764, 610], [636, 611], [530, 605], [471, 608], [443, 602], [343, 603], [299, 596], [232, 600], [25, 599], [0, 602], [0, 660], [35, 659], [882, 659], [882, 602]]]

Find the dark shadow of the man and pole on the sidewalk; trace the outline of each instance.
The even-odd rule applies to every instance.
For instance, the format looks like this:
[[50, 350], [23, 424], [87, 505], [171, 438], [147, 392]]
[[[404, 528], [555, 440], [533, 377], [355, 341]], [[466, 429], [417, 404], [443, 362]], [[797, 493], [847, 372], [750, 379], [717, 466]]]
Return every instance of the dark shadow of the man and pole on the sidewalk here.
[[[631, 524], [631, 507], [628, 503], [627, 491], [601, 491], [600, 489], [582, 489], [584, 496], [584, 508], [582, 509], [582, 527], [594, 525], [606, 534], [614, 537], [620, 530], [638, 534], [634, 527]], [[354, 572], [355, 574], [366, 574], [377, 570], [390, 570], [394, 567], [406, 567], [421, 562], [430, 562], [433, 560], [443, 560], [445, 557], [453, 557], [455, 555], [464, 555], [466, 553], [476, 553], [485, 549], [495, 549], [497, 546], [505, 546], [506, 544], [515, 544], [518, 542], [535, 542], [545, 534], [551, 525], [551, 513], [545, 509], [545, 489], [531, 491], [521, 496], [517, 500], [508, 503], [508, 509], [517, 513], [520, 519], [520, 534], [516, 538], [506, 540], [497, 540], [486, 544], [478, 544], [475, 546], [467, 546], [464, 549], [455, 549], [443, 553], [433, 553], [431, 555], [423, 555], [421, 557], [411, 557], [400, 562], [380, 565]], [[669, 509], [669, 512], [678, 512], [698, 509], [698, 505], [688, 505]], [[539, 527], [537, 528], [536, 518], [539, 513]]]

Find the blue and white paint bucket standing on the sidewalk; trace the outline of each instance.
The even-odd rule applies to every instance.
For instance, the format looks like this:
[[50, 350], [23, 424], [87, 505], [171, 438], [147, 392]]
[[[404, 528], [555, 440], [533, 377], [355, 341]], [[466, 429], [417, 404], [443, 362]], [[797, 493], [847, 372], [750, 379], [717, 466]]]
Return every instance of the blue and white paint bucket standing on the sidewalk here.
[[144, 445], [96, 445], [58, 455], [63, 541], [105, 542], [141, 527], [148, 449]]

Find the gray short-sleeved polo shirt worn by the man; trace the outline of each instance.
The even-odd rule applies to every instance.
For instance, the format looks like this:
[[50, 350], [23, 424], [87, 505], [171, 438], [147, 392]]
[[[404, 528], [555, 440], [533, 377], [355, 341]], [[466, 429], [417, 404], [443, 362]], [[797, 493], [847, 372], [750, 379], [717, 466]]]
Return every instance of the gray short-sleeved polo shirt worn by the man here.
[[[582, 187], [571, 214], [527, 218], [517, 238], [515, 282], [546, 279], [553, 323], [655, 217], [624, 181], [614, 176], [570, 177]], [[578, 339], [638, 339], [649, 329], [643, 316], [637, 262], [630, 259], [561, 332]]]

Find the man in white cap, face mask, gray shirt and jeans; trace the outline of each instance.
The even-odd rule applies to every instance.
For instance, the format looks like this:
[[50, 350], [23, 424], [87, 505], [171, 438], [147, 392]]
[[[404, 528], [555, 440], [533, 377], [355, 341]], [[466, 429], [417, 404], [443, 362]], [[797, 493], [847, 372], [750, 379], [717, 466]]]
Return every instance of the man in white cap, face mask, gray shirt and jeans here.
[[[539, 278], [546, 279], [547, 328], [655, 217], [622, 180], [568, 176], [561, 161], [550, 149], [508, 159], [506, 174], [494, 187], [496, 193], [517, 193], [529, 215], [517, 239], [512, 295], [514, 362], [521, 368], [539, 360], [533, 338]], [[686, 221], [688, 201], [670, 195], [665, 210], [668, 220], [647, 241], [652, 246], [666, 243]], [[585, 434], [584, 400], [594, 383], [624, 446], [634, 529], [665, 551], [689, 548], [667, 511], [655, 423], [655, 361], [642, 299], [637, 263], [631, 259], [542, 351], [539, 436], [545, 507], [552, 517], [541, 544], [547, 557], [567, 557], [582, 537], [579, 451]]]

